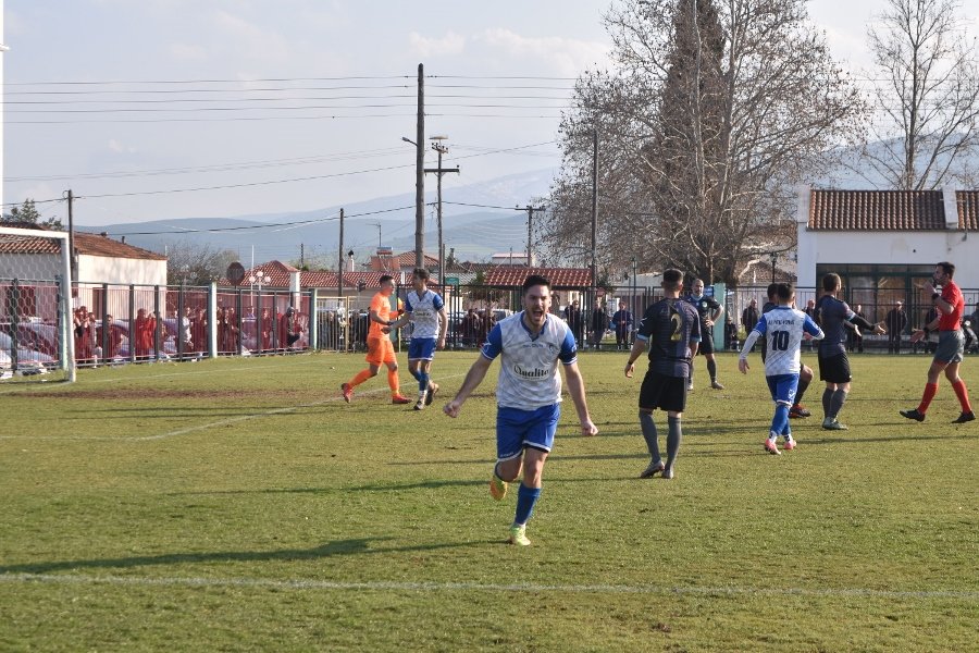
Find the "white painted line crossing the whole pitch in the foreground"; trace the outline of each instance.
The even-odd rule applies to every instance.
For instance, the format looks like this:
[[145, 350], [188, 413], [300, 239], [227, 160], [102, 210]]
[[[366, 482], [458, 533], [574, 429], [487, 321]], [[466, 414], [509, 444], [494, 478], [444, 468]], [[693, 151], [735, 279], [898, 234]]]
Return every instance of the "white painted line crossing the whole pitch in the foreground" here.
[[401, 582], [371, 581], [344, 582], [334, 580], [276, 580], [269, 578], [142, 578], [132, 576], [82, 576], [59, 574], [0, 574], [0, 582], [38, 582], [52, 584], [112, 584], [205, 588], [272, 588], [276, 590], [365, 590], [406, 592], [552, 592], [552, 593], [608, 593], [608, 594], [687, 594], [687, 595], [742, 595], [768, 596], [866, 596], [870, 599], [979, 599], [979, 592], [953, 590], [871, 590], [866, 588], [666, 588], [659, 584], [536, 584], [536, 583], [481, 583], [481, 582]]

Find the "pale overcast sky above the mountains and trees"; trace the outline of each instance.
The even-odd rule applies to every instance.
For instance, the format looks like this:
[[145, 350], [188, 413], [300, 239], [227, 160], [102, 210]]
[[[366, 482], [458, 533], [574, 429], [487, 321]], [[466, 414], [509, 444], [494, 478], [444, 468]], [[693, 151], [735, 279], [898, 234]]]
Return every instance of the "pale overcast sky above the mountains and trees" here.
[[[844, 66], [884, 0], [813, 0]], [[963, 15], [979, 33], [979, 0]], [[308, 211], [413, 193], [416, 78], [453, 186], [559, 163], [609, 0], [0, 0], [4, 202], [79, 225]], [[429, 165], [435, 164], [429, 151]], [[426, 183], [433, 196], [434, 180]], [[201, 189], [205, 188], [205, 189]], [[529, 200], [530, 198], [528, 198]], [[413, 215], [406, 209], [405, 215]]]

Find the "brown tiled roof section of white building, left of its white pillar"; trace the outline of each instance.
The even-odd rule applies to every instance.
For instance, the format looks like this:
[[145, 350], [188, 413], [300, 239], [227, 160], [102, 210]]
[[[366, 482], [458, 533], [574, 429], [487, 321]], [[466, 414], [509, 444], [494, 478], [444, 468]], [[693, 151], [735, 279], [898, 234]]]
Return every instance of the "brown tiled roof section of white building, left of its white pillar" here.
[[813, 190], [810, 230], [944, 231], [941, 190]]

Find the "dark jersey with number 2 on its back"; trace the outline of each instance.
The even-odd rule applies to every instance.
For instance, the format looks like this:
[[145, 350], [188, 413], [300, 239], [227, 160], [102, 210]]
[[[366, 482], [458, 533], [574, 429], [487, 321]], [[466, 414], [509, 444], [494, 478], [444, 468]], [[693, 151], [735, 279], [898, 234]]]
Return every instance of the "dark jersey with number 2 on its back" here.
[[660, 299], [646, 309], [636, 338], [649, 347], [649, 369], [666, 377], [690, 375], [691, 345], [701, 342], [697, 310], [682, 299]]

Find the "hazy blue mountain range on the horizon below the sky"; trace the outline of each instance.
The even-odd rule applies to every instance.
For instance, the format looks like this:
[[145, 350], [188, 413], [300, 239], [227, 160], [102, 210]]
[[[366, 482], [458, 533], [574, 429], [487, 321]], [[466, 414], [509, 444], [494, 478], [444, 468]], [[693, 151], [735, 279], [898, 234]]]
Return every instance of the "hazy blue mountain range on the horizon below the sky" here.
[[[880, 150], [887, 144], [870, 146]], [[841, 189], [887, 188], [887, 181], [869, 168], [857, 149], [837, 152], [840, 163], [826, 175], [810, 180], [814, 187]], [[958, 163], [963, 170], [979, 169], [979, 156]], [[525, 207], [540, 206], [546, 197], [557, 169], [548, 168], [511, 174], [482, 183], [443, 189], [443, 241], [446, 257], [458, 260], [487, 261], [494, 254], [522, 252], [526, 247]], [[435, 195], [426, 186], [425, 246], [437, 256]], [[414, 250], [414, 194], [382, 196], [347, 205], [344, 208], [344, 251], [354, 251], [355, 260], [364, 262], [379, 246], [395, 254]], [[312, 211], [292, 211], [230, 218], [183, 218], [140, 223], [117, 223], [100, 227], [79, 226], [80, 231], [107, 232], [112, 237], [125, 236], [126, 243], [166, 252], [185, 242], [231, 249], [246, 268], [277, 259], [307, 262], [311, 267], [336, 266], [339, 239], [340, 207]]]

